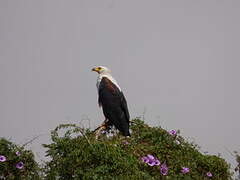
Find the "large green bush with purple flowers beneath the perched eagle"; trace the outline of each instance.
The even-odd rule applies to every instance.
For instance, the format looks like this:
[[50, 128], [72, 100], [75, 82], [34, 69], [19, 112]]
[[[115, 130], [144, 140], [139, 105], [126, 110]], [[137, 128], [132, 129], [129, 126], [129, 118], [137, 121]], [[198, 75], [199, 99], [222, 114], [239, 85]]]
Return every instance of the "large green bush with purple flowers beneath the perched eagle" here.
[[200, 153], [176, 131], [149, 127], [139, 119], [131, 130], [130, 138], [102, 135], [95, 140], [88, 129], [58, 126], [53, 142], [44, 145], [50, 157], [46, 179], [231, 179], [224, 159]]

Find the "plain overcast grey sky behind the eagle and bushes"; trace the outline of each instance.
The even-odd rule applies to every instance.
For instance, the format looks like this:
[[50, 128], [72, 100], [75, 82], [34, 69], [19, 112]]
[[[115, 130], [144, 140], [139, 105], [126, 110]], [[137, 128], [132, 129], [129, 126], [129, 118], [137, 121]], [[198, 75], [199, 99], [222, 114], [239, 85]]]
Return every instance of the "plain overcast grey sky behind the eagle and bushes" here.
[[[180, 129], [202, 151], [240, 151], [240, 1], [0, 0], [0, 136], [41, 143], [60, 123], [103, 120], [95, 65], [131, 117]], [[84, 123], [87, 125], [87, 123]], [[39, 155], [40, 154], [40, 155]]]

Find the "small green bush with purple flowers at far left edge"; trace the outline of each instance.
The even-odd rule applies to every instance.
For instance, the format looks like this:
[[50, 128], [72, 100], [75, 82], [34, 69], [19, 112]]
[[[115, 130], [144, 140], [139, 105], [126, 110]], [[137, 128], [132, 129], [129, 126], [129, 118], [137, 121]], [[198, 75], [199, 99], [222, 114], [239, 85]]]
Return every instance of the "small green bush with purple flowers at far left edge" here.
[[0, 138], [0, 179], [40, 179], [33, 153]]

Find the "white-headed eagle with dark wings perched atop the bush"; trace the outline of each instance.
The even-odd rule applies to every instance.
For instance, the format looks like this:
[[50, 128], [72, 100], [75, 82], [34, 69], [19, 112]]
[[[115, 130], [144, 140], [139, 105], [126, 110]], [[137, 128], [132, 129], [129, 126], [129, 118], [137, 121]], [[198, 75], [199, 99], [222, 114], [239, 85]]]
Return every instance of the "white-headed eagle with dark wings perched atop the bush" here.
[[120, 86], [107, 67], [98, 66], [92, 71], [99, 74], [97, 78], [98, 104], [102, 107], [105, 116], [104, 123], [97, 129], [102, 130], [115, 126], [123, 136], [130, 136], [130, 115], [126, 98]]

